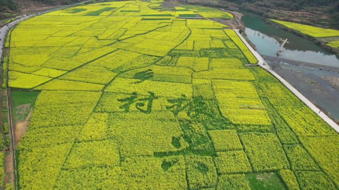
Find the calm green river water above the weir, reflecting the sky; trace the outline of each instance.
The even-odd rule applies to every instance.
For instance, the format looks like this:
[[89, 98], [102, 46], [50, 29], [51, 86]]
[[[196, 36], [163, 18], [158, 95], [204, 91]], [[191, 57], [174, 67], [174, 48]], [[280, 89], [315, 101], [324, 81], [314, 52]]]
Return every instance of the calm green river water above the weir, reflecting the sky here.
[[339, 67], [338, 55], [326, 51], [307, 39], [269, 25], [261, 21], [259, 16], [245, 13], [242, 21], [246, 27], [247, 38], [256, 46], [260, 54], [274, 56], [280, 49], [282, 42], [287, 38], [287, 43], [279, 57]]

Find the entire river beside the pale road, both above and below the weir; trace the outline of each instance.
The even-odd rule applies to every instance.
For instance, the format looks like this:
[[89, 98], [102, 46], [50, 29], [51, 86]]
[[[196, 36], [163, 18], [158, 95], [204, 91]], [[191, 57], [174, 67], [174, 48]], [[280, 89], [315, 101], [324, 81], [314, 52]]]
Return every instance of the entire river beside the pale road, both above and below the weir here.
[[[288, 42], [278, 57], [339, 67], [338, 55], [307, 39], [267, 24], [257, 15], [241, 13], [244, 14], [242, 21], [245, 34], [260, 54], [274, 56], [287, 38]], [[307, 99], [339, 122], [339, 73], [269, 61], [267, 63]]]

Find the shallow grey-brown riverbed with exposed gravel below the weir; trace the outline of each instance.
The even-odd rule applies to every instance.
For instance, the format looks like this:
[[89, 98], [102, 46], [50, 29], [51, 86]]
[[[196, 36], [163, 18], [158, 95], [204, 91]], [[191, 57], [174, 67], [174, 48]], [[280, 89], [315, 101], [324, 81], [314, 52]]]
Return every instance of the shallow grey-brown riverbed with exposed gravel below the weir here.
[[271, 61], [266, 63], [339, 124], [339, 73]]

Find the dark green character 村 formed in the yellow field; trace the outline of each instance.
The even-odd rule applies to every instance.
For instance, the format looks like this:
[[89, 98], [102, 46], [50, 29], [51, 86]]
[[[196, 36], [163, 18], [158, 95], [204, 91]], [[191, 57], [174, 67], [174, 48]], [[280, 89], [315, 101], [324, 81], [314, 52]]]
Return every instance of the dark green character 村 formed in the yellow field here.
[[158, 99], [158, 97], [156, 97], [153, 92], [148, 92], [148, 93], [149, 93], [149, 96], [146, 98], [138, 99], [138, 94], [136, 92], [133, 92], [130, 97], [118, 99], [117, 101], [121, 103], [125, 103], [119, 108], [123, 109], [124, 112], [127, 113], [129, 112], [129, 109], [132, 106], [132, 104], [136, 103], [135, 108], [137, 110], [145, 114], [150, 114], [152, 111], [153, 100]]

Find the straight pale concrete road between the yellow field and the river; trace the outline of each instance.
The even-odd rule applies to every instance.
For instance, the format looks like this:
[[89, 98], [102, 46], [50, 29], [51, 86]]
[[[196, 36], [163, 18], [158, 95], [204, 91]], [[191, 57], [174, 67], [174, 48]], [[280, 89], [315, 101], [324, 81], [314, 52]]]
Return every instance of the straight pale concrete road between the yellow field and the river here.
[[246, 44], [248, 49], [253, 53], [253, 55], [259, 60], [258, 64], [260, 67], [264, 68], [268, 72], [270, 72], [273, 76], [278, 78], [283, 85], [285, 85], [294, 95], [296, 95], [302, 102], [304, 102], [313, 112], [318, 114], [322, 119], [324, 119], [332, 128], [334, 128], [337, 132], [339, 132], [339, 125], [334, 122], [329, 116], [324, 114], [319, 108], [317, 108], [311, 101], [309, 101], [304, 95], [302, 95], [297, 89], [295, 89], [292, 85], [290, 85], [285, 79], [283, 79], [280, 75], [274, 72], [270, 66], [266, 64], [264, 59], [260, 56], [258, 52], [256, 52], [252, 46], [241, 36], [239, 30], [235, 30], [235, 33], [241, 38], [241, 40]]

